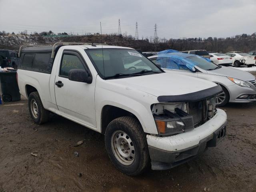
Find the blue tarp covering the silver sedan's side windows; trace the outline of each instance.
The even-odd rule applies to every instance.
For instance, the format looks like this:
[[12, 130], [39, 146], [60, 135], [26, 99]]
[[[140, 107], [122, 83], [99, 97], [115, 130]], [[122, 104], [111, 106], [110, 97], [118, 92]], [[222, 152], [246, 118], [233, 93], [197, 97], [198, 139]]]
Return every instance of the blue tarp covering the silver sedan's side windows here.
[[[159, 52], [160, 53], [160, 52]], [[159, 54], [156, 63], [161, 64], [161, 68], [180, 69], [194, 71], [196, 62], [188, 61], [186, 57], [192, 56], [191, 54], [172, 52], [168, 54]]]

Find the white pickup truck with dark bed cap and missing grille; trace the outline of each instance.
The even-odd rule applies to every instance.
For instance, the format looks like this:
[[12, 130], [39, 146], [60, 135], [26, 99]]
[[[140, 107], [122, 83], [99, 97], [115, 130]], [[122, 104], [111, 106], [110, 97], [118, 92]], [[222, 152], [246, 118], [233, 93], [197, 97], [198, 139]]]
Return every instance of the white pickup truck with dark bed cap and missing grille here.
[[125, 174], [177, 166], [226, 135], [222, 91], [213, 82], [168, 74], [137, 50], [60, 43], [20, 48], [18, 85], [32, 120], [49, 112], [105, 135]]

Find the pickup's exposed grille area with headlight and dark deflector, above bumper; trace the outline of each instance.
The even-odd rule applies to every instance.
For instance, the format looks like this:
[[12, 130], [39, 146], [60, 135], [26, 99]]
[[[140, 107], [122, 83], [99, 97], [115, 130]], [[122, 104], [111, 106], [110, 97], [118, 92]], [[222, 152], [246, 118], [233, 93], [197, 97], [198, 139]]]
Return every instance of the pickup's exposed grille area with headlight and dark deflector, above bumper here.
[[159, 96], [160, 103], [151, 106], [158, 135], [187, 132], [210, 120], [216, 114], [216, 95], [221, 91], [218, 85], [180, 96]]

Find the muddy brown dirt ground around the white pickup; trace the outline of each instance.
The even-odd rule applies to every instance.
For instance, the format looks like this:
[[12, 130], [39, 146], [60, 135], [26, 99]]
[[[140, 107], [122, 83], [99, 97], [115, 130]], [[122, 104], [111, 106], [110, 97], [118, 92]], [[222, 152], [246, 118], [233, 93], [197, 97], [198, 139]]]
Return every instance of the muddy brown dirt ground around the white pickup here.
[[[0, 192], [256, 191], [256, 103], [223, 109], [228, 114], [227, 137], [216, 148], [171, 170], [130, 177], [110, 162], [103, 135], [57, 115], [37, 125], [27, 101], [4, 103]], [[80, 140], [84, 144], [74, 147]]]

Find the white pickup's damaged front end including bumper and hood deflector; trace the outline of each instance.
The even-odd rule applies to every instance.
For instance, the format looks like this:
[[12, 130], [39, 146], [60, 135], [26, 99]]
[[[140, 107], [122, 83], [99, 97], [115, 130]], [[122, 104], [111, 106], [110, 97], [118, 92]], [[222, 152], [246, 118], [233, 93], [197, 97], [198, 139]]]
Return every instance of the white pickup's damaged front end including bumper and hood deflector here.
[[215, 86], [199, 92], [160, 96], [151, 111], [158, 135], [147, 135], [153, 170], [178, 166], [208, 147], [215, 147], [226, 136], [226, 113], [216, 109]]

